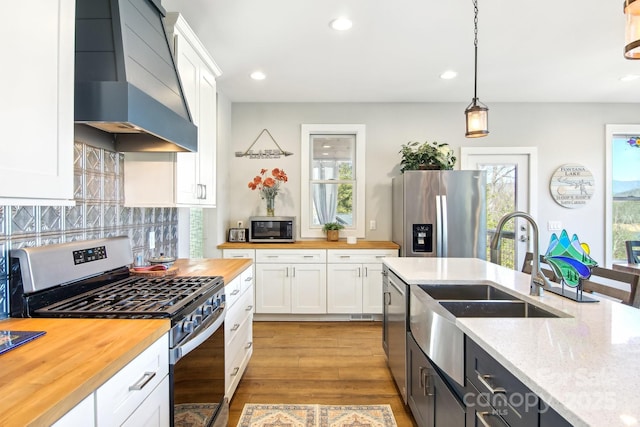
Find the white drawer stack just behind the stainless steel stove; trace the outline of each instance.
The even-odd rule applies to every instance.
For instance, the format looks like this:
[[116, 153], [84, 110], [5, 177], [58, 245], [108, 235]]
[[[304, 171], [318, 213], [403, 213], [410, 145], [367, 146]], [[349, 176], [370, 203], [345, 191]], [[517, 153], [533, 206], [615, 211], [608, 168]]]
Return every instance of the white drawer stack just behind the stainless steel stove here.
[[253, 270], [225, 285], [225, 397], [231, 400], [253, 354]]

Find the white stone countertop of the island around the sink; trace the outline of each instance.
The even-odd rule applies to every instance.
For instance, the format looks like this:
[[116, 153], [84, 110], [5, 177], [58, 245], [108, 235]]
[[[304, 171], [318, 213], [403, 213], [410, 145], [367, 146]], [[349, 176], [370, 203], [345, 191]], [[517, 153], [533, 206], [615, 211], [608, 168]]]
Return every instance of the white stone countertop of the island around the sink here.
[[489, 283], [571, 316], [456, 324], [573, 425], [640, 426], [640, 310], [605, 298], [530, 296], [528, 274], [479, 259], [385, 258], [384, 264], [410, 285]]

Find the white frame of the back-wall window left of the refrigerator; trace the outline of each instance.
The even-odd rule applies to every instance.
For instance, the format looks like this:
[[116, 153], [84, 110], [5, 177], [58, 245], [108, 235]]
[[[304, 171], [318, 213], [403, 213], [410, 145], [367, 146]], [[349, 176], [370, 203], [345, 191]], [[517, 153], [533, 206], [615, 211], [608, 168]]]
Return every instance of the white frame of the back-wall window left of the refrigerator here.
[[340, 230], [342, 237], [365, 237], [365, 142], [363, 124], [302, 124], [300, 130], [300, 237], [322, 238], [322, 227], [311, 224], [311, 135], [355, 135], [354, 224]]

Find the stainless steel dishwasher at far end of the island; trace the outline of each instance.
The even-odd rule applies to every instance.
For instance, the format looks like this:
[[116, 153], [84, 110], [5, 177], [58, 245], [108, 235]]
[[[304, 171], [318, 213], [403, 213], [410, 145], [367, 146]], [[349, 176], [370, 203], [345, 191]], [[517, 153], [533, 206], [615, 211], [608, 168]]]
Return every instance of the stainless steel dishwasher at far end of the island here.
[[382, 346], [387, 365], [407, 403], [407, 285], [387, 266], [382, 272], [383, 329]]

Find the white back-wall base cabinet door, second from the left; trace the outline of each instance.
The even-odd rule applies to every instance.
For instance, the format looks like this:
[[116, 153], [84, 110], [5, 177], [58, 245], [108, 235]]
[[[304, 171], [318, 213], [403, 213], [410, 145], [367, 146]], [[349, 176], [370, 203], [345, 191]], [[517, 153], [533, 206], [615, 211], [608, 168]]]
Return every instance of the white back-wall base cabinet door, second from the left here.
[[291, 264], [291, 312], [327, 313], [325, 264]]

